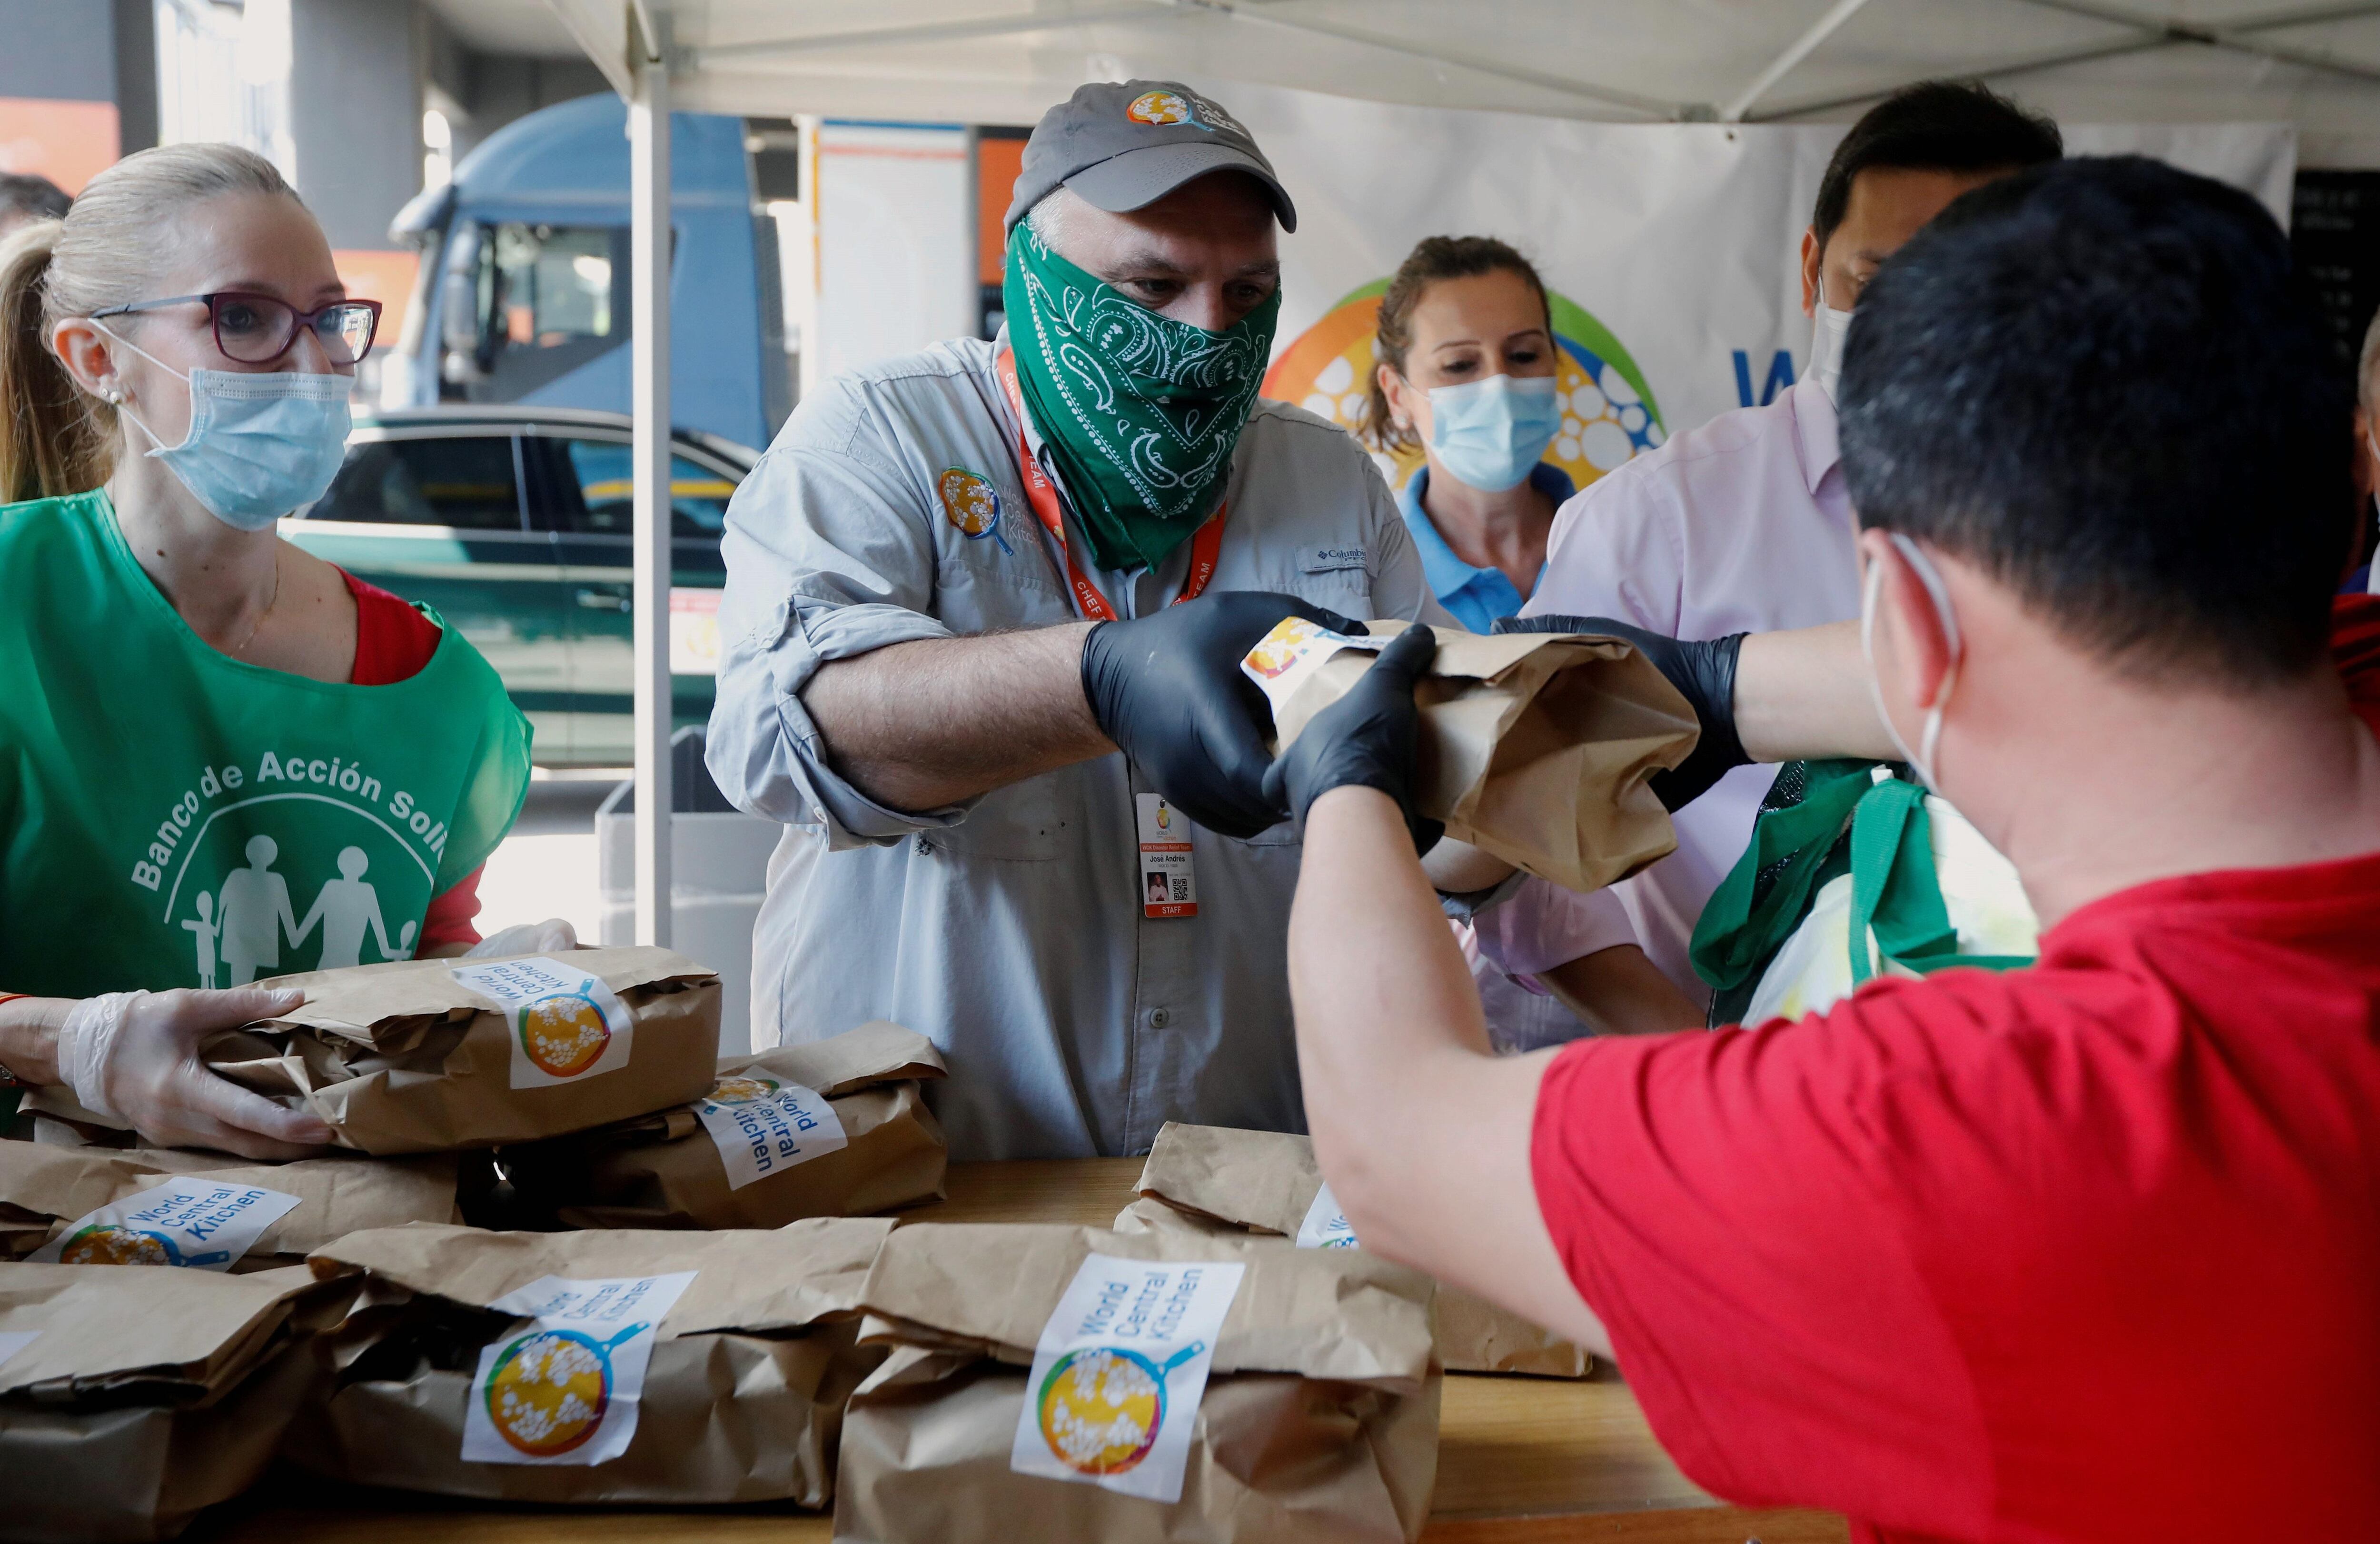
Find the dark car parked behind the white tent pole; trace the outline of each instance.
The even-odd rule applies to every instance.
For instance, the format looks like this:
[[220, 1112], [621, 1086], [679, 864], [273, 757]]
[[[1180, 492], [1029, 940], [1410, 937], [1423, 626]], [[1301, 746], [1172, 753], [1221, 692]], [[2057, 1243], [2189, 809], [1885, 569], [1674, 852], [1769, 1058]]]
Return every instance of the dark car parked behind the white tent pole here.
[[[719, 669], [719, 533], [754, 452], [678, 433], [669, 473], [676, 723], [704, 723]], [[536, 407], [357, 414], [331, 492], [293, 542], [478, 645], [545, 766], [626, 766], [633, 740], [628, 419]]]

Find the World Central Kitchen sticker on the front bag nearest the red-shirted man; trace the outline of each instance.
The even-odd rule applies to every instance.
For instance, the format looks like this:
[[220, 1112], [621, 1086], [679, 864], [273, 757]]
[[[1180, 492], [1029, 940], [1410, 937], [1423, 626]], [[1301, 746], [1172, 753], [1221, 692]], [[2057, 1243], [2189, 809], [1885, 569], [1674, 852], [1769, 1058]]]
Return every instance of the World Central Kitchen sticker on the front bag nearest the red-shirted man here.
[[1197, 1401], [1245, 1270], [1085, 1259], [1033, 1349], [1009, 1468], [1180, 1501]]

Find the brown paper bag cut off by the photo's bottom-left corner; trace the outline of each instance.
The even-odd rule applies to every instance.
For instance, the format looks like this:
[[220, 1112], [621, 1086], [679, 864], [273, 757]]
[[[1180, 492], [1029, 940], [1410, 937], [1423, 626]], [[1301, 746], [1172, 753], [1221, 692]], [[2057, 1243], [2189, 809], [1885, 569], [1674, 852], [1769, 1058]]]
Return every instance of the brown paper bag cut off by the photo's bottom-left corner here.
[[0, 1266], [0, 1532], [169, 1539], [248, 1489], [350, 1297], [302, 1266]]

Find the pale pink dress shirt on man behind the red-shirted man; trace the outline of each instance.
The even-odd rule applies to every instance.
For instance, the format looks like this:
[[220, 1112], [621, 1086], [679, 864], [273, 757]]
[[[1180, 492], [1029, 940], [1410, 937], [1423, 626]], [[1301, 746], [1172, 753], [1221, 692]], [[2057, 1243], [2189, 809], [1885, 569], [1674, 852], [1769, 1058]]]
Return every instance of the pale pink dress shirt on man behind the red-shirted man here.
[[[1825, 390], [1802, 381], [1590, 483], [1554, 516], [1545, 576], [1521, 607], [1523, 616], [1547, 611], [1614, 616], [1671, 638], [1856, 619], [1856, 531]], [[1695, 921], [1752, 840], [1773, 780], [1773, 766], [1735, 768], [1678, 811], [1678, 852], [1614, 885], [1645, 954], [1695, 1002], [1711, 997], [1687, 959]], [[1530, 883], [1488, 911], [1480, 952], [1528, 971], [1499, 940], [1542, 937], [1533, 911], [1554, 895]], [[1488, 925], [1514, 909], [1502, 928]]]

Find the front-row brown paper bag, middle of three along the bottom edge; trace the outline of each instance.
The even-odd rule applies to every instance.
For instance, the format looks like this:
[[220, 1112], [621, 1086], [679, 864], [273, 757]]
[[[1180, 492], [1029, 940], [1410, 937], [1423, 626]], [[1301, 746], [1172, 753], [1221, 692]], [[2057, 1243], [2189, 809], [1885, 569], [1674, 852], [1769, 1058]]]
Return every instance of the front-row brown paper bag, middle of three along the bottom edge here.
[[[852, 1342], [859, 1285], [890, 1230], [814, 1218], [776, 1232], [350, 1235], [317, 1251], [314, 1268], [364, 1270], [364, 1297], [326, 1339], [331, 1389], [290, 1427], [283, 1456], [333, 1480], [445, 1496], [826, 1506], [843, 1404], [883, 1361]], [[500, 1449], [502, 1463], [464, 1458], [469, 1406], [488, 1411], [495, 1394], [476, 1392], [481, 1354], [507, 1356], [524, 1342], [521, 1318], [490, 1304], [543, 1278], [676, 1273], [693, 1282], [647, 1339], [626, 1451], [600, 1463], [519, 1461], [531, 1446]], [[595, 1408], [609, 1420], [605, 1399], [628, 1401], [626, 1382], [612, 1382], [619, 1368], [605, 1368]]]

